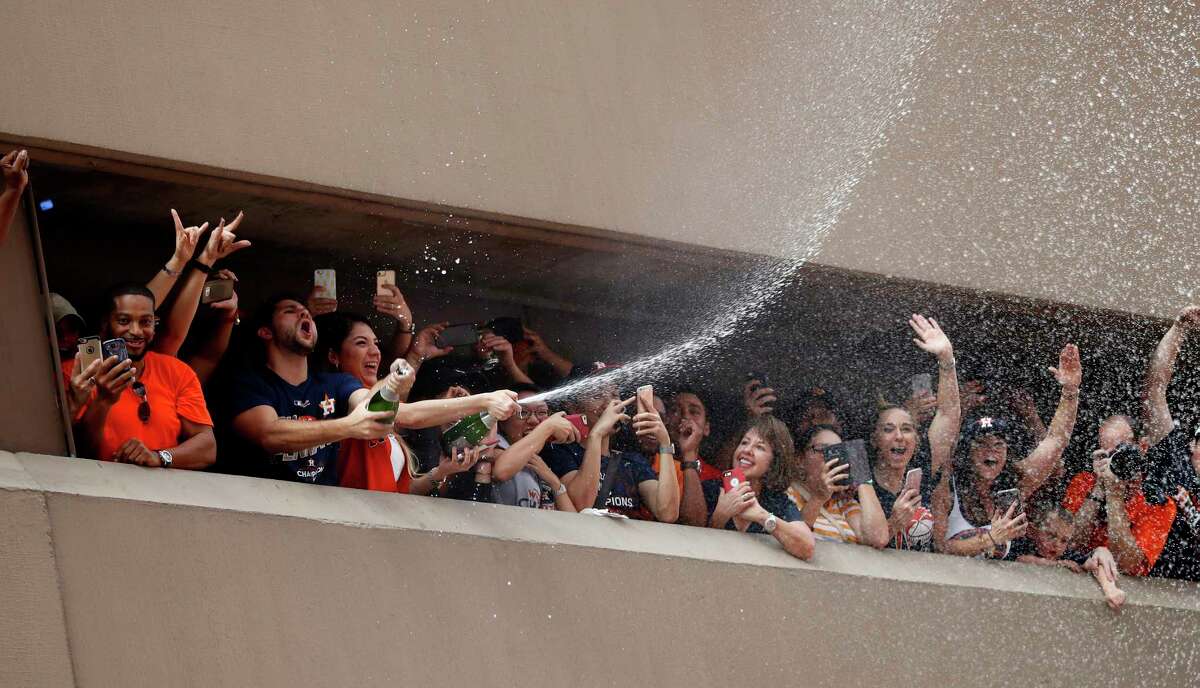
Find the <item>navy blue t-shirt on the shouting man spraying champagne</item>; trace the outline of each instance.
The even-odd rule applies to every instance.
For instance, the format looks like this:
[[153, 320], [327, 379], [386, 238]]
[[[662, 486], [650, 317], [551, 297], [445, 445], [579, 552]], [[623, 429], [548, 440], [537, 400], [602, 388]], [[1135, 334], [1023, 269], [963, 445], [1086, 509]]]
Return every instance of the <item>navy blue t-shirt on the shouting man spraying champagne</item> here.
[[[362, 383], [346, 373], [310, 373], [299, 385], [289, 384], [268, 367], [247, 370], [230, 387], [232, 411], [236, 417], [257, 406], [270, 406], [280, 418], [294, 420], [332, 420], [349, 411], [350, 395]], [[337, 442], [289, 451], [268, 454], [246, 443], [244, 461], [250, 473], [262, 478], [337, 485]]]

